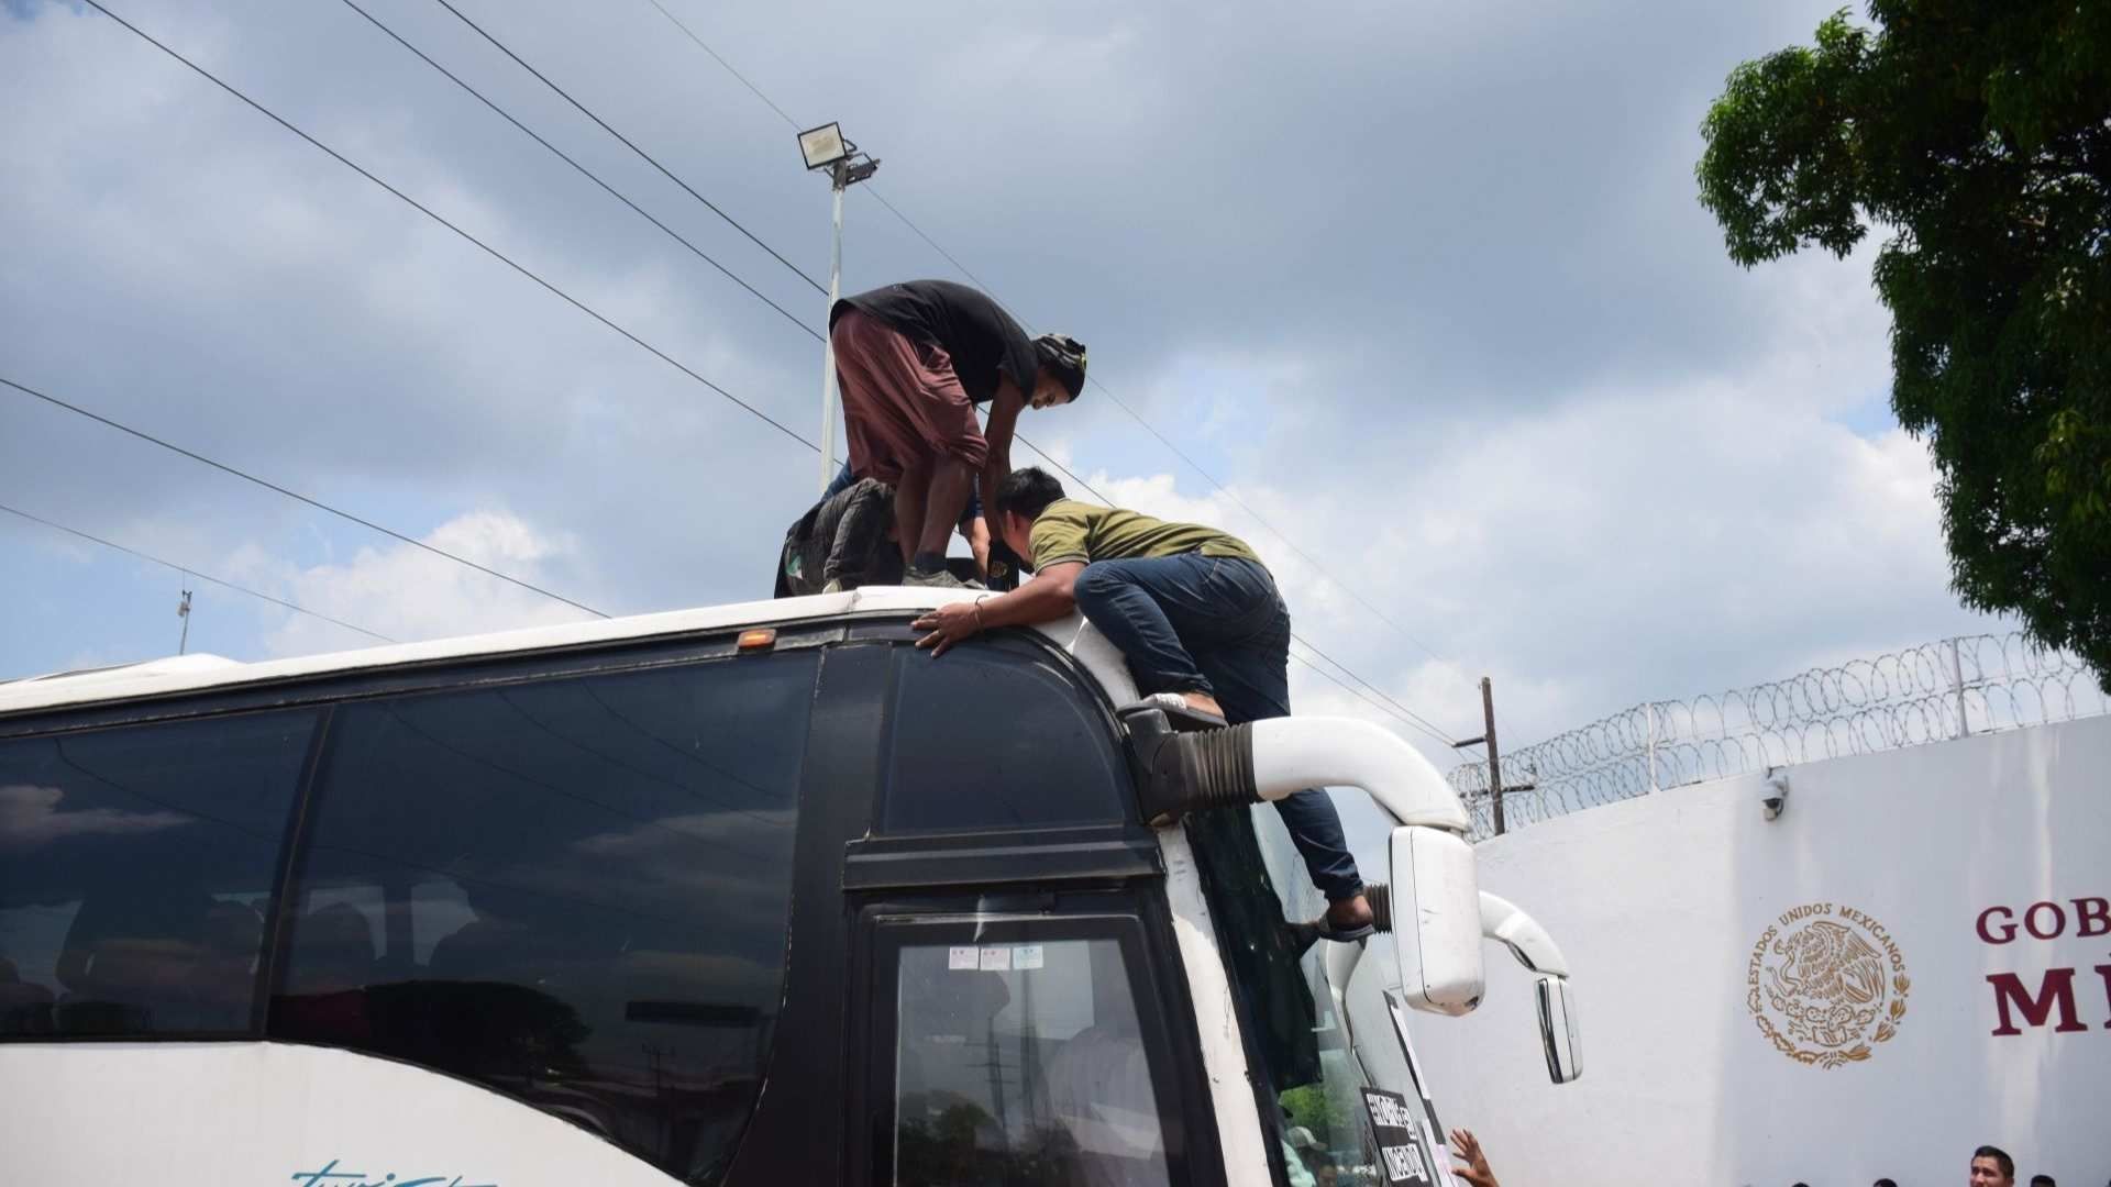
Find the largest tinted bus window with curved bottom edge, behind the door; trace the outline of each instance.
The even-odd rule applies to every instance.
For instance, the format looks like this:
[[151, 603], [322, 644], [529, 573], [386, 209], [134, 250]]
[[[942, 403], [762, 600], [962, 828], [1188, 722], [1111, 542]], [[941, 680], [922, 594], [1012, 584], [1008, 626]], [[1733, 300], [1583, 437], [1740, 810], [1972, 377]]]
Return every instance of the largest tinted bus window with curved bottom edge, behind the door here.
[[274, 1037], [714, 1181], [781, 982], [815, 653], [338, 708]]

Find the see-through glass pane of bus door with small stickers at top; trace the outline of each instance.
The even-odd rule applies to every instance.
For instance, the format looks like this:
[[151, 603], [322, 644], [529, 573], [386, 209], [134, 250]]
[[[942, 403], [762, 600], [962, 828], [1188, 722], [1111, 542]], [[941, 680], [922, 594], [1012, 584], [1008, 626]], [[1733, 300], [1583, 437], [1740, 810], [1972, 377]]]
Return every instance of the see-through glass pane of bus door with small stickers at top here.
[[1011, 925], [889, 948], [893, 986], [876, 1010], [891, 1024], [876, 1031], [895, 1052], [876, 1073], [891, 1071], [893, 1136], [876, 1183], [1176, 1181], [1165, 1054], [1119, 940]]

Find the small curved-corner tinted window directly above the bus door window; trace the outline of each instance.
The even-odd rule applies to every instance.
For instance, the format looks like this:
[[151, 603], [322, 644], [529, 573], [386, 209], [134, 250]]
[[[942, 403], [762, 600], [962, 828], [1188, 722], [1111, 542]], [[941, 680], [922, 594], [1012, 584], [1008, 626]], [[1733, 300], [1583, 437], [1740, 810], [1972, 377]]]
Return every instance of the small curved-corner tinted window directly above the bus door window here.
[[889, 741], [887, 832], [1134, 815], [1106, 718], [1028, 644], [971, 644], [944, 659], [901, 648]]

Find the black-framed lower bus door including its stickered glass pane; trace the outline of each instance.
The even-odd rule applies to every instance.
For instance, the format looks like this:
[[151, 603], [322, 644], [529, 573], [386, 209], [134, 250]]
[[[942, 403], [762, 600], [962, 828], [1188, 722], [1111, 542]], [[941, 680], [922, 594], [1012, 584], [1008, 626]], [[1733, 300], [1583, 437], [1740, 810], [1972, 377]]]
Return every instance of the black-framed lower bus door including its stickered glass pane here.
[[1134, 898], [1045, 902], [861, 912], [863, 1183], [1212, 1181]]

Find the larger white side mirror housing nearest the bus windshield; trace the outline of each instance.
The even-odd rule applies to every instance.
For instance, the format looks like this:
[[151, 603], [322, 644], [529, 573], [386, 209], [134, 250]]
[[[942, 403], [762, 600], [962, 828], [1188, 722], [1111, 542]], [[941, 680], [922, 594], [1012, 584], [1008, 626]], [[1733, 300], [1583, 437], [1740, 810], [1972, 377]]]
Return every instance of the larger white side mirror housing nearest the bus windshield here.
[[1393, 953], [1400, 993], [1429, 1014], [1480, 1005], [1480, 879], [1473, 847], [1442, 828], [1404, 824], [1391, 839]]

